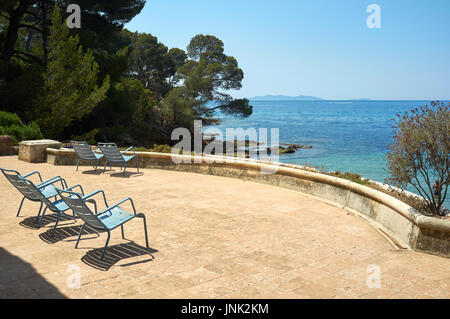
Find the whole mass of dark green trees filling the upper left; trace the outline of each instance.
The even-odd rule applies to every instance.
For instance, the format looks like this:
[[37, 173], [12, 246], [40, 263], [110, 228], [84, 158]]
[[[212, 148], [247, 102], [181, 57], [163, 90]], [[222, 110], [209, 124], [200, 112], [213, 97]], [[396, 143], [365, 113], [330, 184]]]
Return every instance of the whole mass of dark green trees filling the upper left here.
[[[69, 4], [81, 8], [79, 29], [62, 22]], [[45, 137], [139, 146], [172, 144], [172, 130], [192, 130], [196, 119], [249, 116], [248, 100], [230, 94], [242, 87], [244, 73], [224, 43], [200, 34], [186, 50], [168, 48], [155, 35], [124, 29], [144, 5], [2, 1], [0, 108], [38, 123]]]

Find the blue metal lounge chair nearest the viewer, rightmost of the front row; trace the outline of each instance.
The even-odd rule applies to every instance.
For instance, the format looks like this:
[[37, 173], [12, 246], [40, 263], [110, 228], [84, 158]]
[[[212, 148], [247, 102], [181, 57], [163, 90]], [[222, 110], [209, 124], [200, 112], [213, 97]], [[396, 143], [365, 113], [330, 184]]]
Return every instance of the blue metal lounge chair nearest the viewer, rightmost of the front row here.
[[[148, 246], [148, 236], [147, 236], [147, 223], [145, 220], [145, 215], [143, 213], [136, 213], [136, 209], [134, 207], [133, 200], [131, 198], [123, 199], [117, 203], [115, 203], [112, 206], [108, 205], [108, 202], [106, 201], [105, 193], [102, 190], [95, 191], [91, 193], [90, 196], [93, 196], [98, 193], [103, 194], [103, 200], [106, 205], [106, 209], [102, 210], [101, 212], [97, 212], [97, 205], [95, 205], [95, 213], [92, 212], [92, 210], [86, 205], [86, 200], [78, 193], [62, 190], [57, 188], [56, 191], [61, 196], [62, 200], [73, 210], [75, 215], [80, 217], [84, 224], [81, 226], [80, 233], [78, 234], [77, 243], [75, 244], [75, 248], [78, 247], [78, 243], [81, 238], [81, 234], [83, 233], [83, 229], [86, 225], [89, 227], [92, 227], [96, 230], [102, 230], [108, 232], [108, 238], [106, 240], [105, 247], [103, 248], [103, 253], [101, 260], [105, 257], [106, 248], [108, 247], [109, 239], [110, 239], [110, 232], [114, 230], [115, 228], [119, 227], [122, 231], [122, 238], [125, 239], [125, 234], [123, 230], [123, 225], [132, 220], [135, 217], [142, 218], [144, 221], [144, 231], [145, 231], [145, 244], [147, 248]], [[123, 210], [120, 205], [124, 202], [129, 201], [131, 203], [131, 206], [133, 207], [133, 213], [129, 213], [125, 210]]]

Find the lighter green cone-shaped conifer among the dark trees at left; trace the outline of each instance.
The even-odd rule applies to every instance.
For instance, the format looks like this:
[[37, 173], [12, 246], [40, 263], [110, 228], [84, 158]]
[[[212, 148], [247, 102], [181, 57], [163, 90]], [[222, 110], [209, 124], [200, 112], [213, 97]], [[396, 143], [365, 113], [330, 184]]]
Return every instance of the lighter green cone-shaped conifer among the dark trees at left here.
[[44, 134], [61, 138], [74, 119], [89, 114], [106, 96], [109, 77], [97, 86], [98, 65], [92, 53], [83, 53], [78, 37], [68, 36], [57, 7], [53, 11], [45, 83], [36, 100], [38, 123]]

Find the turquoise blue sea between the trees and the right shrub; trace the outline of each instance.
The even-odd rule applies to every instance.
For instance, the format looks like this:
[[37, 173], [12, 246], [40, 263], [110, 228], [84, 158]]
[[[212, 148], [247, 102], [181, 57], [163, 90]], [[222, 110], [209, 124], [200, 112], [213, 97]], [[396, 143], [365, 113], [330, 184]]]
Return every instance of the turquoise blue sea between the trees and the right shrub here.
[[[246, 119], [224, 117], [215, 126], [279, 128], [280, 143], [312, 146], [279, 161], [310, 164], [326, 171], [354, 172], [384, 182], [388, 145], [393, 142], [393, 119], [430, 101], [251, 101]], [[414, 191], [413, 189], [408, 189]], [[448, 201], [446, 206], [448, 207]]]

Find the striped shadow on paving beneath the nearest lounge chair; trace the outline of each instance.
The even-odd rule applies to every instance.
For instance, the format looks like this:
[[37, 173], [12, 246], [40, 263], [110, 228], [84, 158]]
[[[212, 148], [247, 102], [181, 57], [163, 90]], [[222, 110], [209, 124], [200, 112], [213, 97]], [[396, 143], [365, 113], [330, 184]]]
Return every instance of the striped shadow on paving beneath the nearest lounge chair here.
[[147, 263], [155, 259], [152, 253], [156, 253], [158, 250], [153, 248], [146, 248], [136, 244], [135, 242], [128, 242], [115, 246], [109, 246], [106, 249], [106, 254], [103, 260], [101, 259], [103, 253], [103, 247], [90, 250], [81, 258], [81, 261], [86, 265], [98, 270], [108, 271], [112, 266], [121, 260], [149, 255], [151, 258], [130, 262], [127, 264], [119, 265], [120, 267], [127, 267], [136, 264]]

